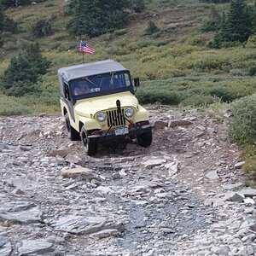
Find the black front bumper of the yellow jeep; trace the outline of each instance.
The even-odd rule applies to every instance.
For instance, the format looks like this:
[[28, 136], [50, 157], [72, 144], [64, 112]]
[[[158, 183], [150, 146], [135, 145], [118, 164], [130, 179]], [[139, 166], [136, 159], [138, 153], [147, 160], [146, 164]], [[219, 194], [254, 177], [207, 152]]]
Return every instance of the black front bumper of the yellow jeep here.
[[[122, 128], [122, 127], [119, 127]], [[96, 134], [92, 134], [88, 136], [88, 138], [91, 141], [94, 142], [102, 142], [102, 141], [108, 141], [112, 139], [118, 139], [121, 137], [132, 137], [139, 134], [142, 134], [144, 132], [148, 132], [152, 130], [152, 125], [141, 125], [141, 126], [131, 126], [131, 128], [128, 129], [128, 133], [122, 134], [122, 135], [116, 135], [115, 130], [119, 128], [113, 128], [110, 131], [97, 131]]]

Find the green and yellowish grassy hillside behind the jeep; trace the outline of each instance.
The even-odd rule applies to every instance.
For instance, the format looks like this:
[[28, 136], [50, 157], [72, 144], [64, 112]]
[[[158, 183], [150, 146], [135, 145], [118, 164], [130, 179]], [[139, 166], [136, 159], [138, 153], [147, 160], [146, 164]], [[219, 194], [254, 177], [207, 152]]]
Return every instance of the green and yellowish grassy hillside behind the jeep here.
[[[219, 12], [227, 8], [227, 4], [218, 5]], [[120, 61], [131, 70], [133, 77], [142, 79], [137, 96], [144, 103], [199, 106], [230, 102], [252, 94], [256, 82], [248, 74], [250, 68], [256, 67], [256, 44], [251, 38], [245, 47], [207, 49], [213, 35], [202, 33], [200, 27], [210, 9], [210, 4], [196, 0], [148, 1], [145, 12], [129, 15], [124, 29], [89, 39], [96, 55], [85, 55], [84, 60]], [[19, 99], [2, 95], [0, 115], [59, 112], [57, 69], [82, 62], [82, 55], [77, 51], [79, 38], [70, 38], [67, 34], [67, 2], [49, 0], [8, 9], [6, 14], [18, 22], [20, 31], [5, 38], [0, 75], [22, 44], [35, 40], [32, 25], [38, 19], [53, 20], [55, 34], [38, 40], [44, 55], [52, 61], [49, 73], [38, 83], [44, 89], [42, 95]], [[154, 20], [160, 32], [145, 35], [148, 20]]]

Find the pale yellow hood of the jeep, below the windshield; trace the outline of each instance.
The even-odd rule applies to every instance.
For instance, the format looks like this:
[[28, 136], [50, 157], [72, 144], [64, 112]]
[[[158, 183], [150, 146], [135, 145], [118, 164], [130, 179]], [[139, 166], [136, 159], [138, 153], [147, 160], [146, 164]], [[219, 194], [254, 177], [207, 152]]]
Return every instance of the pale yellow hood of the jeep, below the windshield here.
[[76, 103], [74, 110], [75, 113], [81, 116], [91, 117], [91, 115], [95, 115], [98, 111], [116, 108], [117, 100], [120, 101], [121, 108], [128, 106], [137, 108], [138, 105], [136, 96], [131, 94], [130, 91], [127, 91], [113, 95], [97, 96], [80, 100]]

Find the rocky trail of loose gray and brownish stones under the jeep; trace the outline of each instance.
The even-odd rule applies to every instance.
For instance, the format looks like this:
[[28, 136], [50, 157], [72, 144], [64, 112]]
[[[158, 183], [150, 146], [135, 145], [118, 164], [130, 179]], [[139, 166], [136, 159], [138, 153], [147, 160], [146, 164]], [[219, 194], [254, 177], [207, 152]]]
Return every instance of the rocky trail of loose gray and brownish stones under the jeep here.
[[59, 116], [0, 118], [0, 255], [256, 255], [229, 113], [149, 112], [151, 147], [95, 157]]

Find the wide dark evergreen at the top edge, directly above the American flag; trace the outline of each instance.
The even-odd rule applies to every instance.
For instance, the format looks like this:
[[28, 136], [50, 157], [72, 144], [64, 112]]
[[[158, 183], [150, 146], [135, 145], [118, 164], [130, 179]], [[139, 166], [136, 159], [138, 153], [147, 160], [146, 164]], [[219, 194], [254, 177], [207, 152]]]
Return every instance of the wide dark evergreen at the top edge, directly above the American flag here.
[[76, 36], [113, 32], [123, 26], [128, 6], [128, 0], [73, 0], [69, 5], [73, 18], [67, 28]]

